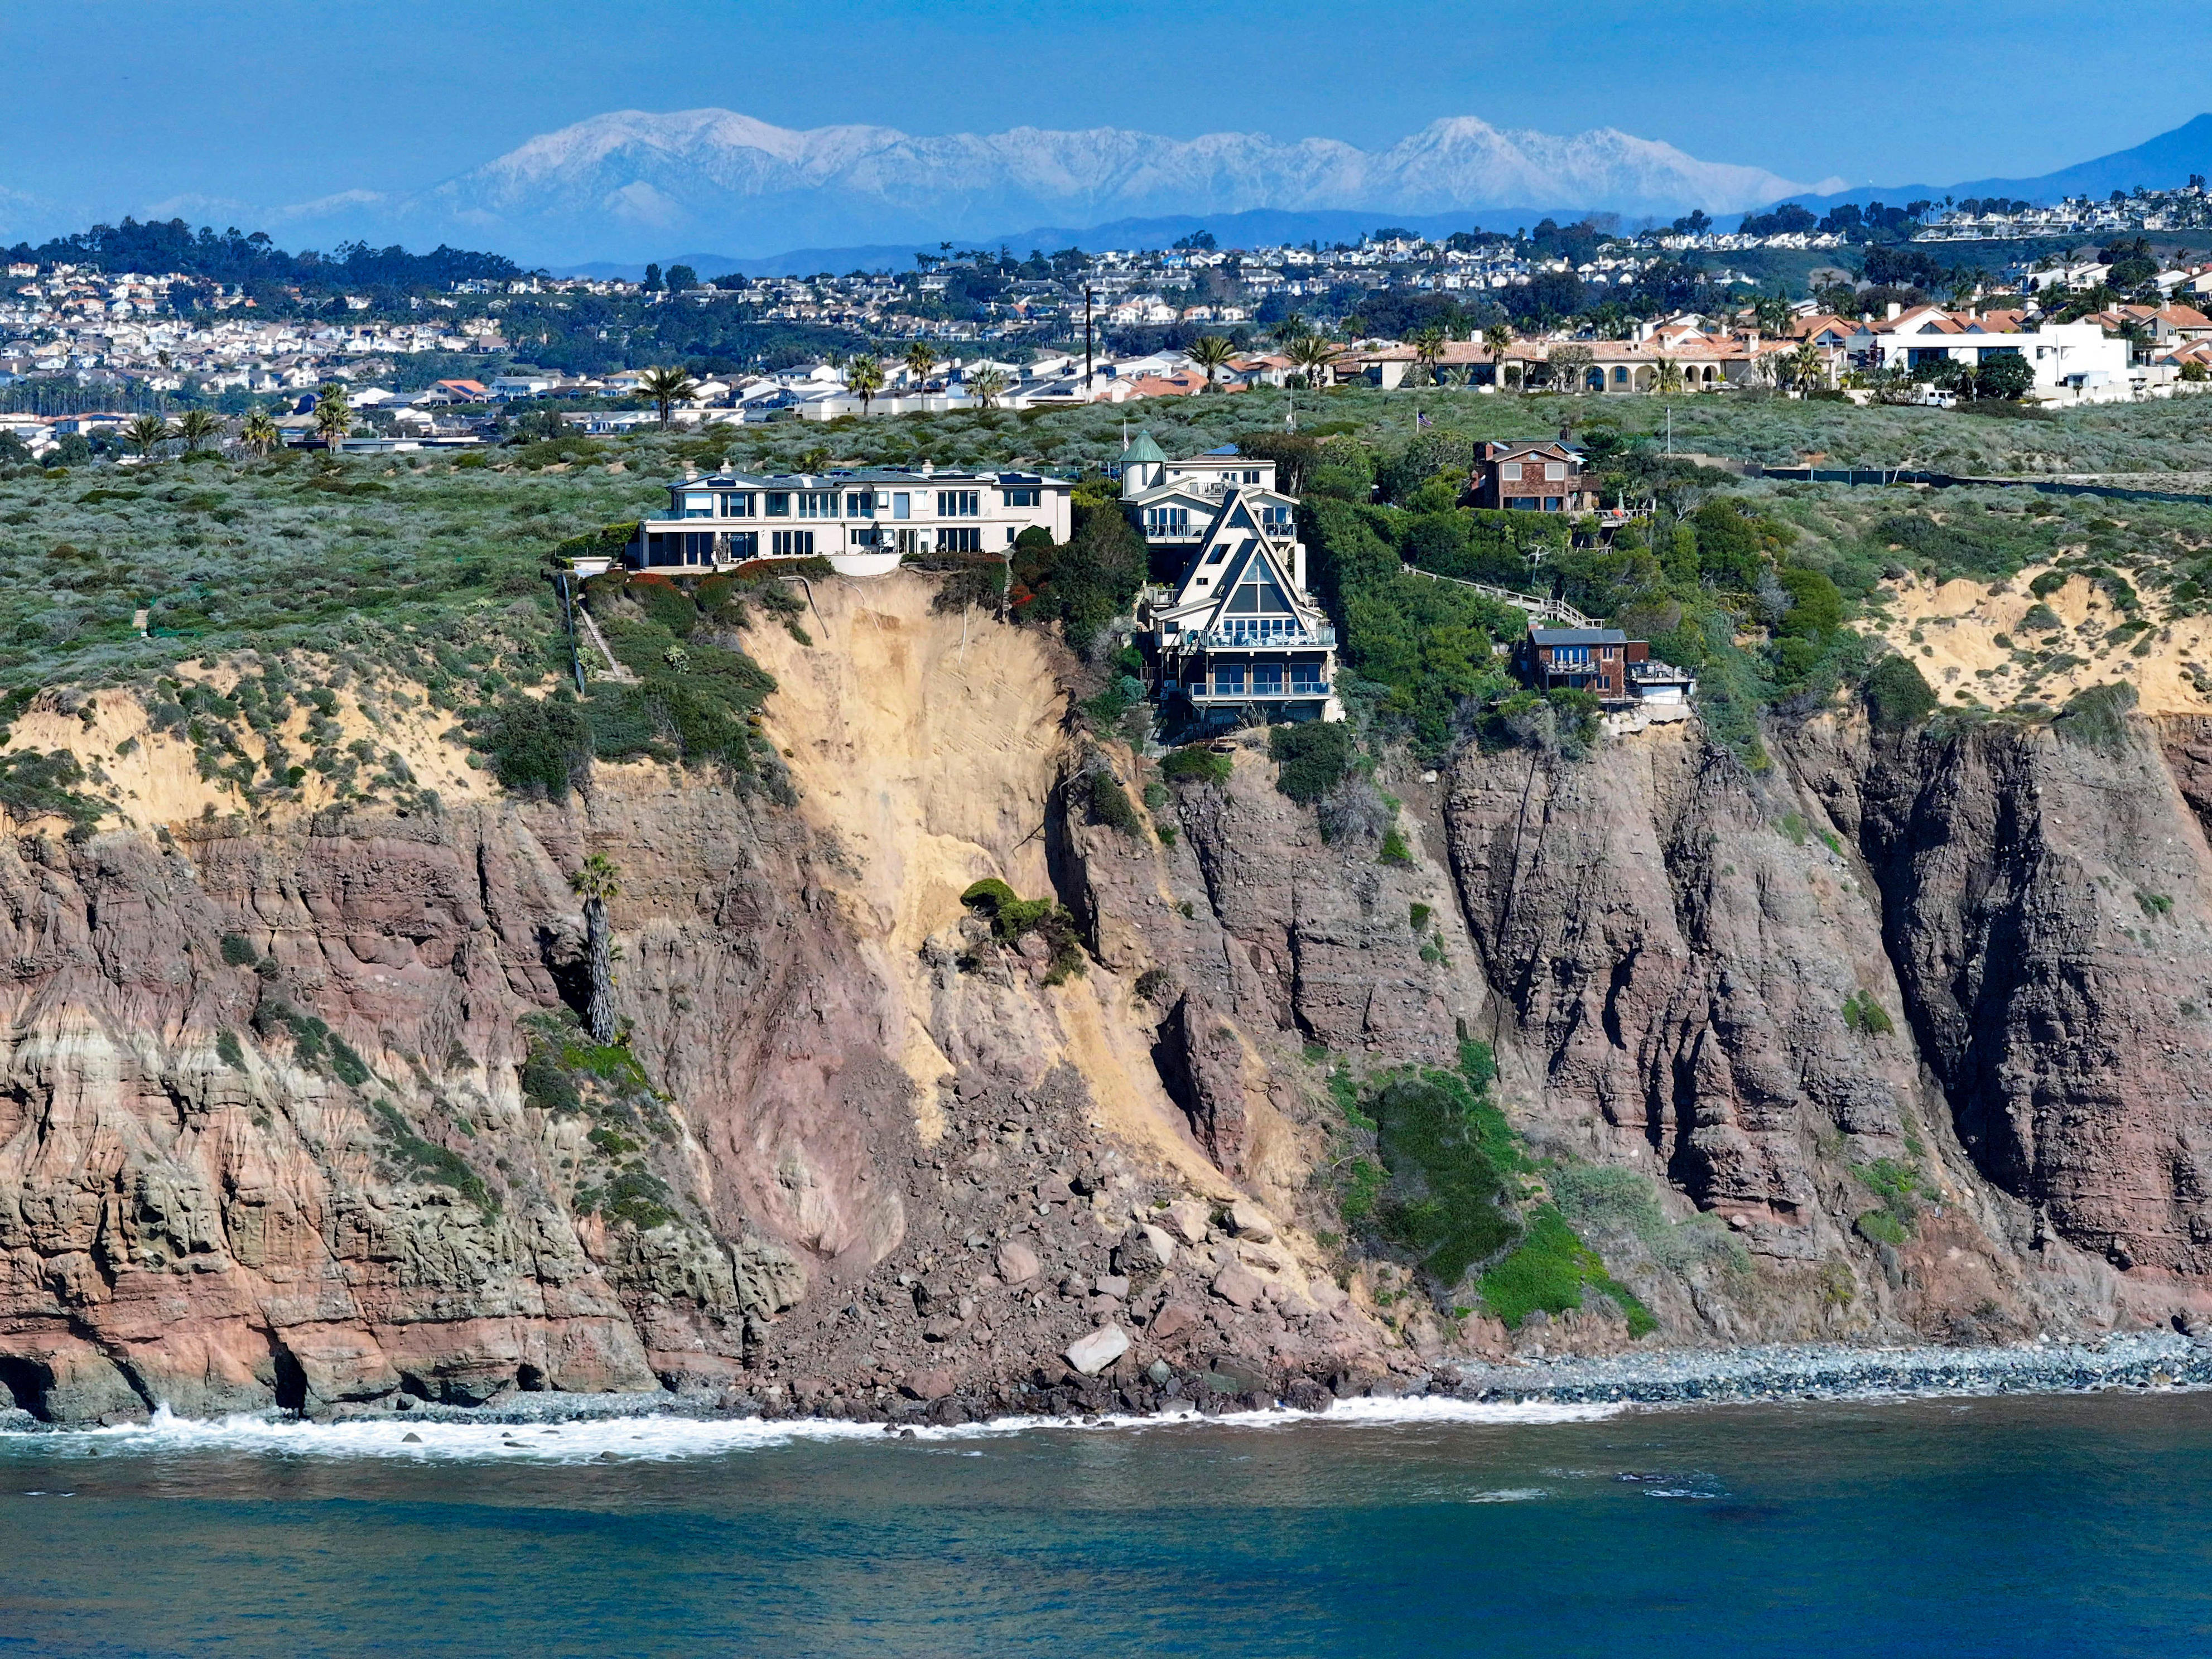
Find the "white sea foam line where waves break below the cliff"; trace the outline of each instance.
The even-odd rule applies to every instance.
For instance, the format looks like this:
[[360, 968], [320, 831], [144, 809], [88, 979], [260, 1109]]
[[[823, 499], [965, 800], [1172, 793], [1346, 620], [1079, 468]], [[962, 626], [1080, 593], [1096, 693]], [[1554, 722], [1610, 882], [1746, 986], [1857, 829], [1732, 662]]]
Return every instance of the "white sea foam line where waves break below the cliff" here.
[[[1626, 1407], [1540, 1405], [1475, 1400], [1340, 1400], [1325, 1416], [1305, 1411], [1164, 1411], [1159, 1416], [993, 1418], [956, 1429], [911, 1425], [916, 1440], [982, 1440], [1020, 1433], [1102, 1433], [1164, 1429], [1298, 1429], [1298, 1427], [1391, 1427], [1391, 1425], [1528, 1425], [1590, 1422]], [[900, 1429], [898, 1438], [909, 1433]], [[832, 1422], [818, 1418], [595, 1418], [586, 1422], [425, 1422], [389, 1418], [376, 1422], [292, 1422], [274, 1416], [179, 1418], [166, 1407], [150, 1422], [77, 1433], [0, 1433], [15, 1451], [58, 1455], [131, 1453], [166, 1455], [239, 1451], [292, 1458], [383, 1458], [403, 1462], [493, 1460], [520, 1464], [670, 1462], [719, 1458], [796, 1440], [887, 1440], [880, 1422]]]

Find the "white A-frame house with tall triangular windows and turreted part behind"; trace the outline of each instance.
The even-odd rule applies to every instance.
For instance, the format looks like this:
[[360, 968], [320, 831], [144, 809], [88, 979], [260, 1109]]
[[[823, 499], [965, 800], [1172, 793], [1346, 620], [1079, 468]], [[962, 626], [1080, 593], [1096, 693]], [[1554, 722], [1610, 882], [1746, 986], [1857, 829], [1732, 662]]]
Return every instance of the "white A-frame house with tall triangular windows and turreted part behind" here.
[[1343, 719], [1336, 628], [1305, 591], [1305, 544], [1274, 462], [1234, 447], [1168, 460], [1150, 431], [1121, 451], [1121, 511], [1152, 551], [1137, 641], [1170, 719]]

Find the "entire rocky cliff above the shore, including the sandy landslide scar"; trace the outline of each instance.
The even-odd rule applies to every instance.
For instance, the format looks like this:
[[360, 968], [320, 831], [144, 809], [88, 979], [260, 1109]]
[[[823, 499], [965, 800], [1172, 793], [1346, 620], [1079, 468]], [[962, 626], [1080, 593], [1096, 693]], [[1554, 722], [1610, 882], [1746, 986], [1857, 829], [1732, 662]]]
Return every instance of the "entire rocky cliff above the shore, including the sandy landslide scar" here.
[[[1159, 787], [1068, 719], [1048, 641], [931, 597], [825, 584], [812, 644], [752, 630], [765, 787], [602, 765], [524, 803], [440, 752], [434, 814], [18, 825], [13, 1400], [942, 1418], [1619, 1347], [1610, 1303], [1506, 1332], [1345, 1241], [1327, 1068], [1471, 1035], [1537, 1183], [1635, 1199], [1575, 1214], [1646, 1340], [2212, 1305], [2201, 721], [1816, 719], [1761, 772], [1686, 728], [1469, 750], [1385, 765], [1383, 863], [1263, 748]], [[91, 714], [42, 741], [159, 763], [128, 699]], [[588, 854], [617, 1048], [573, 1013]], [[982, 878], [1042, 920], [964, 905]]]

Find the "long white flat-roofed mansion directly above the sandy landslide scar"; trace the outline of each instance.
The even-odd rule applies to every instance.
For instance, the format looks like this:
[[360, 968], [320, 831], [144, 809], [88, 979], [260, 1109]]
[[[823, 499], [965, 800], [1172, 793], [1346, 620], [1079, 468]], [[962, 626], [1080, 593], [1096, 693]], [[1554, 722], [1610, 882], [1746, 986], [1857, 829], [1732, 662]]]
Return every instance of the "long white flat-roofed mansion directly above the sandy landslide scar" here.
[[630, 542], [637, 571], [708, 575], [752, 560], [825, 557], [838, 575], [885, 575], [909, 553], [1000, 553], [1031, 529], [1068, 540], [1075, 487], [1048, 473], [867, 467], [832, 473], [690, 473], [668, 518]]

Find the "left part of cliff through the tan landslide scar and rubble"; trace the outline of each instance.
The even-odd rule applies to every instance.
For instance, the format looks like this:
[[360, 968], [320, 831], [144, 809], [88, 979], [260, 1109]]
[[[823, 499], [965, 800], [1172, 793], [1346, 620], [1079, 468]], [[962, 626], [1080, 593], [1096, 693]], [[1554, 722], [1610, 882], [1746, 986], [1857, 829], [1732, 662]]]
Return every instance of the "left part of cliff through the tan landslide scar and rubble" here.
[[[825, 584], [814, 648], [757, 630], [783, 803], [635, 765], [566, 805], [13, 836], [15, 1402], [82, 1422], [708, 1387], [951, 1411], [956, 1387], [1004, 1407], [1062, 1380], [1141, 1400], [1161, 1356], [1265, 1391], [1383, 1363], [1292, 1219], [1312, 1104], [1263, 1053], [1272, 1002], [1263, 1040], [1239, 1033], [1232, 978], [1259, 969], [1188, 849], [1177, 869], [1071, 821], [1088, 757], [1053, 650], [931, 597]], [[626, 1055], [568, 1018], [586, 854], [622, 869]], [[1079, 872], [1099, 960], [1073, 978], [960, 905], [982, 876], [1051, 896]], [[1161, 962], [1192, 1009], [1223, 998], [1197, 1031], [1241, 1099], [1206, 1144], [1135, 989]], [[529, 1093], [562, 1055], [582, 1095]], [[591, 1082], [630, 1057], [650, 1088]], [[1071, 1371], [1102, 1327], [1141, 1352]]]

